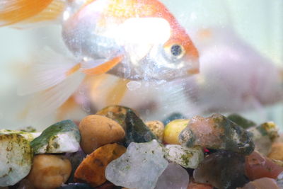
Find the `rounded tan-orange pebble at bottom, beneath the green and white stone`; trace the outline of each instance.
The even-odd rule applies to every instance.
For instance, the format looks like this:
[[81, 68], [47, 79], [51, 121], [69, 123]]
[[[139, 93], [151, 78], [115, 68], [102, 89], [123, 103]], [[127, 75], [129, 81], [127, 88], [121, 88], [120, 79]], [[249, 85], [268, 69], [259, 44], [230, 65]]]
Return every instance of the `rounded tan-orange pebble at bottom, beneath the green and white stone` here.
[[66, 183], [71, 174], [71, 162], [64, 156], [39, 154], [27, 179], [35, 188], [54, 189]]

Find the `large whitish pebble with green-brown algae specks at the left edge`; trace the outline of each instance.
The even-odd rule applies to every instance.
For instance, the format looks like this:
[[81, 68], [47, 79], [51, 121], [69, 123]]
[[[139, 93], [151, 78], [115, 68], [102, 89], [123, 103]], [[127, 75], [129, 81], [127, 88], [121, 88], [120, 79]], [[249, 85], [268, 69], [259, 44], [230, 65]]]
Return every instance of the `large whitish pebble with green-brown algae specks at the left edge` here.
[[0, 133], [0, 187], [14, 185], [30, 172], [33, 150], [21, 134]]

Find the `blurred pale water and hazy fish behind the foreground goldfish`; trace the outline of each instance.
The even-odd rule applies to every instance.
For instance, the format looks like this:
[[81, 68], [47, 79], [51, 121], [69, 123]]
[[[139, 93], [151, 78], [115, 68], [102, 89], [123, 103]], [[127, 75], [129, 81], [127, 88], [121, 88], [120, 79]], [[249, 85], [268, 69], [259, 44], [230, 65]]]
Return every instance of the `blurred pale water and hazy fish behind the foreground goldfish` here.
[[26, 119], [25, 107], [33, 96], [17, 95], [26, 68], [36, 64], [46, 48], [62, 55], [69, 52], [60, 25], [0, 28], [0, 128], [32, 125], [42, 130], [60, 119], [80, 120], [113, 103], [136, 109], [144, 120], [163, 120], [172, 113], [187, 118], [240, 113], [283, 128], [283, 1], [162, 2], [200, 51], [200, 74], [154, 83], [93, 77], [61, 110]]

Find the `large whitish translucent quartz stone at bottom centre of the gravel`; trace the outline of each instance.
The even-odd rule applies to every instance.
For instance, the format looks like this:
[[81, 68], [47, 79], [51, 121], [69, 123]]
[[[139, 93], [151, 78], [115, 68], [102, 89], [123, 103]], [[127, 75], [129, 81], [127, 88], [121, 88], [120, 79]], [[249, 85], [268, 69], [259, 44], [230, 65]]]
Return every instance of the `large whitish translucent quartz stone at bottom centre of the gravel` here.
[[168, 166], [161, 145], [153, 140], [129, 144], [125, 154], [108, 164], [105, 177], [125, 188], [153, 189]]

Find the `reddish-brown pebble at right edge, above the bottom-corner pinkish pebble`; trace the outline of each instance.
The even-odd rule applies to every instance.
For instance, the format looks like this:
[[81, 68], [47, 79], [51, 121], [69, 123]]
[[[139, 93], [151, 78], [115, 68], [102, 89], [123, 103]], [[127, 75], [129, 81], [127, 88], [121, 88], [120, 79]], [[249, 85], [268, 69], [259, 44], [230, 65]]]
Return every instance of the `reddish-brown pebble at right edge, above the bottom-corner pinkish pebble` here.
[[246, 156], [246, 175], [253, 181], [258, 178], [277, 178], [283, 167], [275, 164], [271, 159], [262, 156], [256, 151]]

